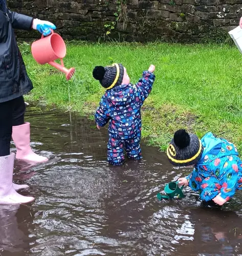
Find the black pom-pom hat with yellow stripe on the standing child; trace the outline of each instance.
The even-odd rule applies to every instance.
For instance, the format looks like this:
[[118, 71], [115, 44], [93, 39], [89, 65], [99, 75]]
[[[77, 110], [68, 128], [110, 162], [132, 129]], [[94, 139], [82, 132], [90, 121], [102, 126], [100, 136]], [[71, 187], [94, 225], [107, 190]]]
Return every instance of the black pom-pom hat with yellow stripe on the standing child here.
[[93, 77], [99, 80], [101, 86], [107, 90], [120, 86], [123, 81], [123, 65], [114, 63], [112, 66], [96, 66], [93, 70]]

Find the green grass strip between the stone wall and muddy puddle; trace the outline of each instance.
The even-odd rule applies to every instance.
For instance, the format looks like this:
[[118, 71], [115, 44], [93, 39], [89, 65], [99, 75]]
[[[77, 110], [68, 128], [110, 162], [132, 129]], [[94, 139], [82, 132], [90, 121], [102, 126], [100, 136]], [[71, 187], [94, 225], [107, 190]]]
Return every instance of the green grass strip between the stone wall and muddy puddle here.
[[[67, 46], [65, 66], [75, 67], [67, 82], [49, 65], [40, 66], [29, 46], [20, 45], [34, 84], [28, 100], [43, 101], [81, 114], [94, 113], [104, 90], [92, 77], [96, 65], [121, 62], [135, 83], [156, 66], [156, 81], [143, 106], [143, 137], [164, 150], [184, 127], [200, 138], [208, 131], [242, 150], [242, 55], [228, 45], [87, 44]], [[69, 98], [70, 91], [70, 98]]]

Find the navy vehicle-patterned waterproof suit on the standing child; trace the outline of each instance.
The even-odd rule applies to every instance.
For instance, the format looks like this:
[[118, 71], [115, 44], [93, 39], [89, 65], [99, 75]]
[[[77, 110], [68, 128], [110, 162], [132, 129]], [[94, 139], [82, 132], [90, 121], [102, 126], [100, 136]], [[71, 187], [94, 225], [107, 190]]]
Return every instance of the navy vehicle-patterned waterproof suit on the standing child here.
[[104, 126], [108, 121], [109, 140], [107, 160], [113, 165], [120, 165], [127, 157], [139, 160], [142, 158], [140, 149], [141, 113], [144, 100], [151, 92], [155, 75], [143, 72], [143, 77], [136, 84], [121, 84], [107, 90], [102, 96], [95, 114], [96, 123]]

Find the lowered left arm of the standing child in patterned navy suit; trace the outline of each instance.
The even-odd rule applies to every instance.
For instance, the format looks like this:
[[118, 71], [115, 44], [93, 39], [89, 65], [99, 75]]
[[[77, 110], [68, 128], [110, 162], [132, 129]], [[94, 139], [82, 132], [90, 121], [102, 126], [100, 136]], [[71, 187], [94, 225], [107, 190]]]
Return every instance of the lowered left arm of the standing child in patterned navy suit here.
[[109, 121], [109, 119], [110, 117], [108, 114], [108, 105], [106, 103], [105, 95], [103, 95], [95, 114], [97, 127], [99, 128], [99, 126], [104, 126]]

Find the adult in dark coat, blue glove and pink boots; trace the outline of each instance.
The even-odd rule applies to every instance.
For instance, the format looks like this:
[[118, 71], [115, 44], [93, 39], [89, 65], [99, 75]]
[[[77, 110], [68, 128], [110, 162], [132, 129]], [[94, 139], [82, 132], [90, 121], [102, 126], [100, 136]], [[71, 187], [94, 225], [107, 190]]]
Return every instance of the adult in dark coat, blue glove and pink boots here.
[[38, 30], [49, 35], [54, 24], [11, 12], [0, 0], [0, 204], [27, 203], [32, 197], [15, 190], [28, 187], [12, 183], [15, 154], [10, 154], [11, 136], [17, 147], [16, 158], [32, 162], [47, 161], [30, 147], [30, 124], [24, 121], [23, 95], [33, 89], [14, 35], [14, 29]]

